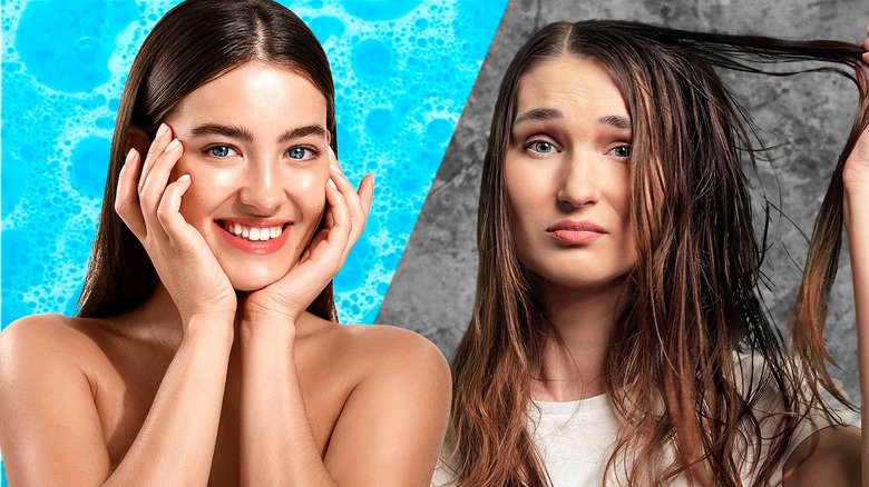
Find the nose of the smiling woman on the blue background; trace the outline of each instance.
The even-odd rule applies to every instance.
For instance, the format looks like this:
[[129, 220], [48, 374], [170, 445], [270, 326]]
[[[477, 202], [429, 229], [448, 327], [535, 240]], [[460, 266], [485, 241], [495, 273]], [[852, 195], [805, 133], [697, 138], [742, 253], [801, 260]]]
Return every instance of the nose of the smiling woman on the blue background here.
[[256, 215], [274, 215], [286, 201], [280, 161], [270, 157], [248, 160], [238, 199]]

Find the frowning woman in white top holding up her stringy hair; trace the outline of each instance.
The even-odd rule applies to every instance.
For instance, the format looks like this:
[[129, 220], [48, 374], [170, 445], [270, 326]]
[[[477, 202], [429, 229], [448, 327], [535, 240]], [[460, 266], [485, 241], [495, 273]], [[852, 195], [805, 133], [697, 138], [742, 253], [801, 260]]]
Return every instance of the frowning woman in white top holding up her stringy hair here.
[[[860, 429], [832, 407], [848, 401], [822, 331], [846, 225], [866, 384], [866, 48], [617, 21], [526, 42], [492, 119], [477, 297], [434, 485], [859, 485]], [[715, 72], [773, 62], [823, 66], [860, 95], [792, 352], [759, 298], [754, 132]]]

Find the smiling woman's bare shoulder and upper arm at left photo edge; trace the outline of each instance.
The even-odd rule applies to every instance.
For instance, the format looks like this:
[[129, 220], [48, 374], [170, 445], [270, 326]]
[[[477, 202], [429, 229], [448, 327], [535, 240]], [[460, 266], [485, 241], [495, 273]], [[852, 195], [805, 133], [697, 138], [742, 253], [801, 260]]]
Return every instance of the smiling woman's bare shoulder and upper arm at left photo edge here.
[[108, 470], [88, 372], [102, 352], [81, 324], [37, 315], [0, 332], [0, 449], [12, 484], [59, 485], [65, 476]]

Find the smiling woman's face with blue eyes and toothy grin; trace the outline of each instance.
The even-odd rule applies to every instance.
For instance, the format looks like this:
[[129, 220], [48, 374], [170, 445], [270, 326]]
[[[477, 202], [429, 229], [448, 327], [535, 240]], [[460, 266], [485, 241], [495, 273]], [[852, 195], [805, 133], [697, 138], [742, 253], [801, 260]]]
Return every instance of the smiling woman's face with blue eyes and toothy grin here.
[[326, 101], [303, 76], [248, 62], [196, 89], [166, 123], [191, 175], [180, 213], [236, 289], [275, 282], [295, 265], [325, 206]]

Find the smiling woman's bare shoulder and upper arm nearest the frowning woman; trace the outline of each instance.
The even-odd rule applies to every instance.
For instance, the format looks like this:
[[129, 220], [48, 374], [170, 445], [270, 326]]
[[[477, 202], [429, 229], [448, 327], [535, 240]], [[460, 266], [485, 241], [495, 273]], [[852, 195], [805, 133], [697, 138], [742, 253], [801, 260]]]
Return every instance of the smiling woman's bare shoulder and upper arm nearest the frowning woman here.
[[338, 484], [429, 485], [450, 408], [440, 350], [391, 326], [340, 326], [342, 360], [354, 370], [325, 465]]

